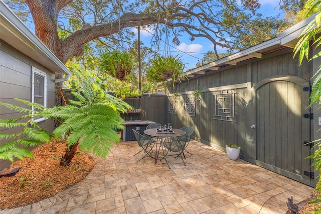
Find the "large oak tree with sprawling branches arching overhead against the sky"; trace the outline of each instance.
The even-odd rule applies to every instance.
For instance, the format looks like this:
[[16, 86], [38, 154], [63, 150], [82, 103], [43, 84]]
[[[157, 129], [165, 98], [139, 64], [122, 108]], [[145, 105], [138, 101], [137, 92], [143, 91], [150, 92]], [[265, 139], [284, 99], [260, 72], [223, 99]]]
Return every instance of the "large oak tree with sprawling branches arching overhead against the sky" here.
[[[24, 0], [7, 0], [8, 3]], [[292, 11], [302, 7], [299, 0], [280, 0], [280, 7]], [[202, 1], [118, 1], [118, 0], [25, 0], [35, 23], [36, 36], [66, 63], [72, 56], [82, 55], [83, 45], [98, 39], [109, 47], [132, 44], [132, 27], [152, 27], [154, 41], [170, 34], [174, 44], [180, 43], [183, 32], [191, 40], [206, 38], [213, 43], [218, 57], [218, 47], [241, 50], [273, 37], [288, 27], [280, 17], [263, 18], [256, 14], [258, 0], [202, 0]], [[22, 4], [10, 4], [22, 13]], [[290, 12], [289, 12], [290, 13]], [[68, 20], [62, 22], [62, 20]], [[68, 36], [60, 38], [58, 29]]]

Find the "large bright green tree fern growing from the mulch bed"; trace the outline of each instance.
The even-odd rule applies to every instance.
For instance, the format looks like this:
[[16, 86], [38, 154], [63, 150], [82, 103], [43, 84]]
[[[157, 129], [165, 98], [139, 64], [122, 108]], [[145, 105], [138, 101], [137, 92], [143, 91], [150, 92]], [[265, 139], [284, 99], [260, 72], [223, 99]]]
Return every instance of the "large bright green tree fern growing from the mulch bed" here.
[[53, 131], [53, 136], [69, 133], [69, 147], [79, 141], [81, 151], [92, 151], [96, 156], [106, 157], [112, 143], [120, 141], [116, 130], [124, 129], [119, 111], [126, 112], [131, 106], [106, 94], [92, 76], [84, 76], [76, 68], [73, 72], [80, 83], [80, 88], [72, 92], [78, 101], [70, 101], [71, 105], [55, 106], [46, 111], [46, 117], [63, 120]]

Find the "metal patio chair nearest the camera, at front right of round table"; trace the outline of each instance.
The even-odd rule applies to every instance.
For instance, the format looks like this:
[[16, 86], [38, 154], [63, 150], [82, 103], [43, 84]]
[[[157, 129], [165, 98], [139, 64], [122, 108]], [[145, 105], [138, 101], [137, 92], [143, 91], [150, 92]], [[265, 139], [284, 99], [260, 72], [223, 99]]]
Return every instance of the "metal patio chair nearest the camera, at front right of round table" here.
[[179, 136], [179, 137], [173, 137], [173, 138], [167, 138], [163, 141], [162, 143], [162, 150], [164, 157], [162, 159], [165, 159], [167, 165], [171, 169], [169, 165], [169, 161], [167, 160], [168, 156], [176, 156], [176, 157], [181, 157], [183, 160], [184, 165], [186, 166], [184, 159], [182, 157], [184, 148], [186, 146], [187, 142], [187, 135]]

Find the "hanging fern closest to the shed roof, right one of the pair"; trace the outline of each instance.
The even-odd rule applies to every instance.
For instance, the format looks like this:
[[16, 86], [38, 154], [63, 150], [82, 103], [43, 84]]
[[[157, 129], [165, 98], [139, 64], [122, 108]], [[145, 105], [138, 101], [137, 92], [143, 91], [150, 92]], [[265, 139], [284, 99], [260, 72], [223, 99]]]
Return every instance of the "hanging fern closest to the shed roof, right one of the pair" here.
[[164, 82], [172, 79], [173, 87], [176, 81], [187, 78], [184, 72], [185, 64], [178, 55], [157, 56], [150, 60], [150, 66], [146, 68], [146, 77], [151, 82]]

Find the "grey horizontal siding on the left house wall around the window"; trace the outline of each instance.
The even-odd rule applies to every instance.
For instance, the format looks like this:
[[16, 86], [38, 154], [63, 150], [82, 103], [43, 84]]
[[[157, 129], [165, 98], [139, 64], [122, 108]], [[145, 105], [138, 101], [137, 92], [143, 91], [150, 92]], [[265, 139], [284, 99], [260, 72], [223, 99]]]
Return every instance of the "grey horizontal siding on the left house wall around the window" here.
[[[0, 40], [0, 43], [0, 101], [20, 105], [21, 103], [14, 98], [31, 101], [32, 67], [34, 66], [47, 73], [47, 107], [54, 106], [55, 73], [5, 41]], [[0, 105], [0, 118], [16, 118], [17, 116], [20, 116], [20, 114]], [[45, 120], [39, 124], [46, 130], [53, 131], [52, 120]], [[5, 128], [1, 128], [0, 131], [4, 133], [12, 132], [12, 130]], [[0, 141], [1, 145], [4, 143], [6, 143], [5, 139]], [[10, 166], [10, 164], [8, 160], [0, 159], [0, 170]]]

